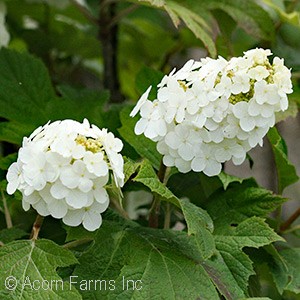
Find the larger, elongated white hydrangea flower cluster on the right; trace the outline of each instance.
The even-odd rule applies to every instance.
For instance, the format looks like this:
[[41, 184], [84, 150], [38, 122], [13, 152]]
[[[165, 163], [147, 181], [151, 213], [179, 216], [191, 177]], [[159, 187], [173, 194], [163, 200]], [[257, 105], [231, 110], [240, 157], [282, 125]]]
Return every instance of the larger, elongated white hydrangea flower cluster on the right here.
[[229, 61], [188, 61], [158, 84], [157, 99], [142, 95], [130, 116], [140, 112], [135, 133], [157, 142], [166, 166], [180, 172], [221, 172], [232, 159], [241, 164], [246, 152], [275, 124], [275, 112], [288, 107], [291, 72], [270, 50], [253, 49]]

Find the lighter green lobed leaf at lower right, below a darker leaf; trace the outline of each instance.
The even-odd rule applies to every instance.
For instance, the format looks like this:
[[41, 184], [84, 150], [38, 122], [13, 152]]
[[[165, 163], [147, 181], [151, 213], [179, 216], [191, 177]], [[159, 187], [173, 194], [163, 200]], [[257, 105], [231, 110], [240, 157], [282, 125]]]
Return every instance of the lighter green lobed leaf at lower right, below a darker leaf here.
[[261, 218], [252, 217], [233, 227], [231, 232], [216, 235], [219, 255], [205, 262], [207, 271], [226, 299], [240, 299], [247, 295], [248, 279], [255, 274], [244, 247], [259, 248], [283, 240]]

